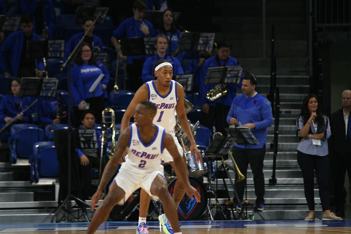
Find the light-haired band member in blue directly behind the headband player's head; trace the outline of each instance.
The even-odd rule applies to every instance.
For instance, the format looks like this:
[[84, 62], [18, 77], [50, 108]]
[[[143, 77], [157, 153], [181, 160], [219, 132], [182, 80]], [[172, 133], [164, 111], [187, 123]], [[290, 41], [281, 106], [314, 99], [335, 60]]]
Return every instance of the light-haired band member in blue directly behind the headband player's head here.
[[147, 58], [143, 65], [143, 74], [141, 75], [141, 79], [143, 82], [147, 82], [152, 80], [154, 77], [153, 68], [157, 60], [165, 59], [173, 66], [173, 74], [181, 75], [184, 74], [183, 68], [180, 65], [180, 62], [177, 58], [172, 57], [166, 54], [166, 50], [168, 48], [168, 39], [167, 36], [160, 34], [156, 37], [155, 41], [156, 54], [150, 58]]

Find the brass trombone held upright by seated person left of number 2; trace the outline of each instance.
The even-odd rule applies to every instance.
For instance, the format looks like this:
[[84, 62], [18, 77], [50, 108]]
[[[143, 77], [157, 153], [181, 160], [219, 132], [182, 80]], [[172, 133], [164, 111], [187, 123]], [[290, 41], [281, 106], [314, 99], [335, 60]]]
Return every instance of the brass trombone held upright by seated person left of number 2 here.
[[[111, 152], [108, 155], [108, 158], [111, 158], [114, 153], [114, 147], [116, 145], [115, 142], [115, 115], [114, 110], [112, 108], [106, 108], [102, 111], [102, 122], [101, 122], [101, 152], [100, 152], [100, 168], [99, 168], [99, 181], [101, 179], [101, 166], [102, 166], [102, 154], [104, 151], [104, 142], [105, 137], [111, 138], [112, 145], [111, 145]], [[112, 134], [106, 134], [106, 131], [112, 129]]]

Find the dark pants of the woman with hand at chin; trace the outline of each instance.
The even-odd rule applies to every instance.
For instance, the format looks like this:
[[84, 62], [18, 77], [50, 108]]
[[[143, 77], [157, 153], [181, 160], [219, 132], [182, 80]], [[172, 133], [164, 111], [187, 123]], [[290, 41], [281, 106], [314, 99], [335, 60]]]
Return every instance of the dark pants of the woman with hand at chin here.
[[297, 151], [297, 162], [304, 178], [304, 190], [308, 208], [314, 210], [314, 171], [317, 176], [319, 197], [322, 210], [329, 210], [329, 159], [328, 156], [317, 156]]

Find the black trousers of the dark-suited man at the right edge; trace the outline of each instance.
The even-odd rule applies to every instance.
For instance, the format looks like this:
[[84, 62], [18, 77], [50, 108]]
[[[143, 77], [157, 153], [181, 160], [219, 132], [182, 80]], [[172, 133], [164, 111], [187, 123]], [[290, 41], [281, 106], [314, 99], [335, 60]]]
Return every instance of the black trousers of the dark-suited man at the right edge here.
[[332, 159], [333, 163], [333, 179], [334, 179], [334, 194], [335, 194], [335, 205], [336, 213], [344, 213], [344, 205], [346, 202], [346, 190], [344, 188], [345, 173], [349, 176], [351, 181], [351, 158], [342, 157], [335, 153]]

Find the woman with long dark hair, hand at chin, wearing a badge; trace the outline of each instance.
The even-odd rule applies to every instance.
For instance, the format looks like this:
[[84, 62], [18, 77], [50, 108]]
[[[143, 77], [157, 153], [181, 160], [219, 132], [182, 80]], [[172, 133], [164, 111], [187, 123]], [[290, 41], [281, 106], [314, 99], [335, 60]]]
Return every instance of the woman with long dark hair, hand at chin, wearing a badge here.
[[301, 113], [296, 119], [296, 127], [300, 140], [297, 147], [297, 162], [302, 171], [305, 196], [310, 209], [305, 220], [316, 220], [313, 172], [316, 172], [317, 175], [323, 220], [340, 220], [342, 218], [336, 216], [329, 209], [327, 142], [331, 135], [329, 119], [322, 113], [322, 105], [315, 94], [308, 94], [305, 97]]

